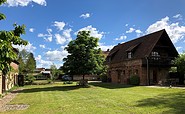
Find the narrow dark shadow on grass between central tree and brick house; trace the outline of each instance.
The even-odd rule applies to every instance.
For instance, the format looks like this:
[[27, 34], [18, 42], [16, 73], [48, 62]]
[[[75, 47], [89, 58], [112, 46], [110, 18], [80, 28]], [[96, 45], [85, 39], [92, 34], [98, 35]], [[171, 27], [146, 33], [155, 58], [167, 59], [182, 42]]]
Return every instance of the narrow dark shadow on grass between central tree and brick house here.
[[134, 87], [132, 85], [124, 85], [124, 84], [113, 84], [113, 83], [103, 83], [103, 82], [90, 82], [89, 85], [107, 88], [107, 89], [119, 89], [119, 88], [130, 88]]

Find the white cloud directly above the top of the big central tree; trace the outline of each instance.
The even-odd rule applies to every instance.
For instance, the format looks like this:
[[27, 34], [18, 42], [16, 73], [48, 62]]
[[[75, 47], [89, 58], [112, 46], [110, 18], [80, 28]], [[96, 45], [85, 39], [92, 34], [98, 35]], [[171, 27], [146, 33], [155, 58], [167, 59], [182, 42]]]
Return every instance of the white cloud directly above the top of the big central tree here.
[[79, 31], [90, 31], [90, 35], [95, 38], [101, 39], [104, 35], [104, 32], [99, 32], [96, 28], [92, 27], [92, 25], [89, 25], [87, 27], [81, 28], [77, 32], [75, 32], [75, 35], [78, 34]]

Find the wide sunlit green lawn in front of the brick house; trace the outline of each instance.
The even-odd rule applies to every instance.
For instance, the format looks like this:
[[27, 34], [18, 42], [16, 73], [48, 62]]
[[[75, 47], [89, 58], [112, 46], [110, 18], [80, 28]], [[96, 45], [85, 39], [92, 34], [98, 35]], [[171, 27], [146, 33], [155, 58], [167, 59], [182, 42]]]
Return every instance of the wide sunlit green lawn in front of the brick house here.
[[25, 86], [10, 104], [27, 110], [4, 114], [185, 114], [185, 90], [109, 83]]

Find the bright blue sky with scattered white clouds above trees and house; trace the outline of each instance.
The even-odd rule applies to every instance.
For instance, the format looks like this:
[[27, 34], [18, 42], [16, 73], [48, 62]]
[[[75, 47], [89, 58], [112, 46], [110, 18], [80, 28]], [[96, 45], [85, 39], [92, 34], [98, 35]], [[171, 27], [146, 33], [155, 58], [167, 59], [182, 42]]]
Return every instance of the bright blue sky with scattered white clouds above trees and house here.
[[0, 30], [25, 24], [21, 37], [33, 52], [37, 67], [63, 64], [64, 48], [79, 30], [90, 30], [102, 50], [118, 43], [166, 29], [179, 53], [185, 48], [184, 0], [7, 0], [0, 12]]

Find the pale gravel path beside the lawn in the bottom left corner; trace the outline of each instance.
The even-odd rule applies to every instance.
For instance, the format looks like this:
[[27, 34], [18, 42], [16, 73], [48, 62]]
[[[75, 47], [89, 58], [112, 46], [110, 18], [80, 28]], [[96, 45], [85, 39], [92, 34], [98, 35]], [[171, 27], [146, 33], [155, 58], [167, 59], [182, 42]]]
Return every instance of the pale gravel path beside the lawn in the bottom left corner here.
[[0, 99], [0, 112], [8, 111], [8, 110], [25, 110], [29, 107], [29, 105], [25, 104], [14, 104], [10, 105], [8, 104], [15, 96], [18, 94], [18, 92], [21, 90], [15, 90], [11, 93], [8, 93], [3, 98]]

